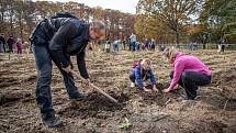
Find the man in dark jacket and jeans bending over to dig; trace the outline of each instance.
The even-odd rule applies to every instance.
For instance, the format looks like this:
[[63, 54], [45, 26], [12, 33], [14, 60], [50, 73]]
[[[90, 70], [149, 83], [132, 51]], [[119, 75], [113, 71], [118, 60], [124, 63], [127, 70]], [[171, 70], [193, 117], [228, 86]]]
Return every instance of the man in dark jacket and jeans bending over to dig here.
[[61, 126], [63, 122], [55, 117], [53, 109], [50, 81], [53, 63], [63, 75], [64, 84], [71, 103], [81, 102], [85, 96], [78, 91], [71, 75], [70, 56], [77, 57], [77, 65], [83, 84], [90, 78], [87, 71], [85, 55], [88, 42], [101, 40], [105, 35], [102, 22], [86, 23], [69, 13], [58, 13], [41, 21], [31, 34], [31, 44], [37, 69], [36, 103], [41, 110], [42, 121], [48, 128]]

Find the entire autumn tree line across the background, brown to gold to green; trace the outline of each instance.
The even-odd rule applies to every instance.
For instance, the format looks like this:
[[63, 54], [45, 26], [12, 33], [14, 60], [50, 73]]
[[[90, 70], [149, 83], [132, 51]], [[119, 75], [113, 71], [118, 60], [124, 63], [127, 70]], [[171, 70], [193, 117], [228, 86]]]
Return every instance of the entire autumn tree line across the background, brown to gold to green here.
[[134, 32], [141, 41], [164, 44], [217, 43], [222, 37], [236, 42], [235, 0], [139, 0], [136, 14], [77, 2], [1, 0], [0, 33], [27, 41], [35, 24], [56, 12], [70, 12], [86, 22], [103, 21], [110, 41], [128, 40]]

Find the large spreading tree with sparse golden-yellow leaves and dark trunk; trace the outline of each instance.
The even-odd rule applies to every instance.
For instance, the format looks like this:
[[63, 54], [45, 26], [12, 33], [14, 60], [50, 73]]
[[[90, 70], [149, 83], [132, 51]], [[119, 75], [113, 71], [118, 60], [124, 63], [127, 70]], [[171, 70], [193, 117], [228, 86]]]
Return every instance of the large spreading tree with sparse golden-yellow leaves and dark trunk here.
[[137, 12], [153, 18], [158, 27], [168, 27], [176, 35], [179, 44], [184, 26], [192, 22], [193, 14], [201, 5], [200, 0], [139, 0]]

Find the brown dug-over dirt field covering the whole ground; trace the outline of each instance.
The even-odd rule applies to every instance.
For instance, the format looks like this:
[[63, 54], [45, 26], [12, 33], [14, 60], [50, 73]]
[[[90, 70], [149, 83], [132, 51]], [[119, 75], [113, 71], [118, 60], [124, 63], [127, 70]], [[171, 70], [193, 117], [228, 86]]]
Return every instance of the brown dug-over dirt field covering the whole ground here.
[[[159, 87], [168, 84], [169, 67], [160, 53], [88, 52], [87, 66], [94, 85], [116, 98], [122, 106], [110, 103], [90, 88], [80, 91], [88, 100], [69, 108], [61, 77], [54, 66], [52, 92], [54, 109], [64, 128], [47, 129], [35, 104], [36, 71], [33, 55], [0, 55], [0, 133], [236, 133], [236, 52], [224, 55], [215, 51], [196, 51], [212, 69], [212, 84], [200, 88], [200, 98], [184, 101], [183, 89], [170, 93], [142, 92], [130, 88], [128, 71], [134, 58], [149, 57]], [[125, 118], [132, 124], [120, 125]]]

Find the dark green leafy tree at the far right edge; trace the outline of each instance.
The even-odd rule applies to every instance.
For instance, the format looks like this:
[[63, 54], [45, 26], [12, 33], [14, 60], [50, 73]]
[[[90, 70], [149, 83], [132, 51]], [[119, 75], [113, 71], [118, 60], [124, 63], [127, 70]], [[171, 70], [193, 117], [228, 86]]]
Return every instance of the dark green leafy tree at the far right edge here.
[[236, 37], [236, 1], [235, 0], [205, 0], [200, 21], [213, 32], [215, 42], [221, 37]]

